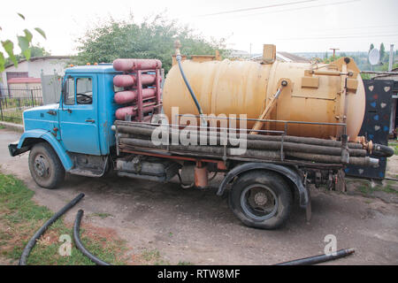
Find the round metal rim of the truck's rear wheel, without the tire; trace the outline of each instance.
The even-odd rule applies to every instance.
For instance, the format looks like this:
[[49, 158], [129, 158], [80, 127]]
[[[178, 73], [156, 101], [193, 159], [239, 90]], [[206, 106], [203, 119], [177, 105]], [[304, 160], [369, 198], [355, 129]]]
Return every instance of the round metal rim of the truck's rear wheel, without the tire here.
[[272, 218], [278, 211], [278, 197], [269, 187], [254, 184], [241, 194], [241, 208], [250, 217], [259, 221]]

